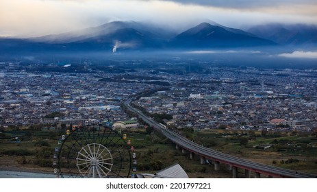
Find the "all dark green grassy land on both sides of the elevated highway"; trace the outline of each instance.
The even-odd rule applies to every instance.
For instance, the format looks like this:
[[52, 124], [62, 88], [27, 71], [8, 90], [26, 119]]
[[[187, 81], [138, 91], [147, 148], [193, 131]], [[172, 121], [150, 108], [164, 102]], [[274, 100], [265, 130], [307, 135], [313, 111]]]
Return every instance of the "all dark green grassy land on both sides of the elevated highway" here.
[[[0, 139], [0, 169], [53, 173], [53, 153], [62, 134], [64, 133], [58, 131], [31, 130], [4, 132]], [[124, 134], [127, 134], [127, 140], [131, 141], [137, 154], [137, 173], [155, 173], [179, 163], [190, 178], [231, 177], [231, 171], [227, 171], [225, 165], [221, 165], [223, 169], [220, 171], [214, 171], [211, 165], [201, 165], [199, 157], [190, 160], [188, 154], [175, 149], [175, 145], [163, 136], [147, 134], [145, 130], [127, 131]], [[316, 136], [287, 133], [280, 136], [273, 133], [261, 136], [260, 132], [229, 130], [201, 130], [192, 132], [190, 136], [196, 143], [219, 152], [317, 174]], [[15, 137], [18, 137], [18, 141]], [[246, 138], [247, 142], [240, 143], [242, 138]], [[270, 147], [264, 149], [264, 146]], [[243, 176], [243, 170], [240, 174]]]

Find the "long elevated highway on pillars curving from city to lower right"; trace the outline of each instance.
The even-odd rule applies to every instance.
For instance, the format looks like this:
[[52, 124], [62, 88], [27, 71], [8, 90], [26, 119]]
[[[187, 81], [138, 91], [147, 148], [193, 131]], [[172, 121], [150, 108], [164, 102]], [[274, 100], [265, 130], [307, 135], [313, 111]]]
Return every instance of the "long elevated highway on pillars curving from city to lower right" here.
[[190, 158], [192, 158], [194, 154], [198, 155], [201, 158], [202, 164], [205, 163], [205, 160], [212, 160], [215, 170], [220, 169], [220, 163], [226, 164], [227, 167], [232, 170], [233, 178], [238, 177], [238, 168], [242, 168], [245, 170], [246, 178], [251, 177], [251, 171], [254, 172], [255, 178], [260, 178], [261, 174], [267, 175], [269, 178], [317, 178], [317, 176], [313, 174], [303, 173], [290, 169], [283, 169], [280, 167], [274, 167], [262, 163], [255, 163], [251, 160], [245, 160], [236, 156], [223, 154], [207, 147], [203, 147], [186, 139], [180, 134], [168, 130], [165, 125], [157, 123], [151, 117], [147, 117], [146, 115], [144, 115], [137, 108], [132, 107], [130, 105], [132, 99], [133, 98], [127, 99], [127, 101], [125, 101], [124, 103], [125, 106], [127, 106], [127, 108], [132, 112], [136, 112], [140, 119], [143, 119], [143, 121], [151, 125], [156, 131], [164, 134], [164, 136], [166, 136], [170, 141], [175, 143], [177, 148], [181, 148], [183, 152], [189, 152]]

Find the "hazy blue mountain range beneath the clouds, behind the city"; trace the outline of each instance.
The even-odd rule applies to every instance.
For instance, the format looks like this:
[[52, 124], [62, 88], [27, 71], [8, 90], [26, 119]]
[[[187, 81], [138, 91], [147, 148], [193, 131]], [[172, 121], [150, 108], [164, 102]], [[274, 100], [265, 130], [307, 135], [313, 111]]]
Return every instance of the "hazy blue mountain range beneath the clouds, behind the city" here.
[[259, 25], [246, 32], [217, 23], [201, 23], [176, 34], [154, 25], [116, 21], [64, 34], [34, 38], [0, 38], [0, 51], [25, 53], [214, 49], [306, 44], [317, 45], [316, 26]]

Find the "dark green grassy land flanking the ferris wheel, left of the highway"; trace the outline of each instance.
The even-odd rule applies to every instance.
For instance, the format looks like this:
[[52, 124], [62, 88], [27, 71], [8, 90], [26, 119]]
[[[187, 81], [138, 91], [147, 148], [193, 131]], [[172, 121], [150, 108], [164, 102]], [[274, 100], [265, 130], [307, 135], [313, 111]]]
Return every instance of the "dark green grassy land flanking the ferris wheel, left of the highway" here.
[[[58, 138], [62, 134], [57, 131], [5, 132], [0, 139], [0, 169], [53, 173], [54, 149], [59, 146]], [[227, 178], [230, 175], [229, 171], [212, 171], [210, 165], [190, 160], [188, 155], [177, 151], [173, 143], [155, 133], [133, 130], [124, 134], [137, 154], [136, 173], [155, 173], [179, 163], [190, 178]]]

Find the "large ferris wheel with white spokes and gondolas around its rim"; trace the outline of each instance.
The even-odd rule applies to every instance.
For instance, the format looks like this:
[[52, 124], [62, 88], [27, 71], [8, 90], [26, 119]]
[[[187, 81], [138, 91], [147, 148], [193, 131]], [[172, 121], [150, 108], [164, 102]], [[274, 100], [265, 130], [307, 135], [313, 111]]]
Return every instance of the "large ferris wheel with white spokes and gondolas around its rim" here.
[[62, 178], [127, 178], [131, 154], [118, 132], [102, 125], [73, 128], [62, 136], [57, 171]]

